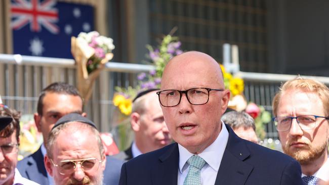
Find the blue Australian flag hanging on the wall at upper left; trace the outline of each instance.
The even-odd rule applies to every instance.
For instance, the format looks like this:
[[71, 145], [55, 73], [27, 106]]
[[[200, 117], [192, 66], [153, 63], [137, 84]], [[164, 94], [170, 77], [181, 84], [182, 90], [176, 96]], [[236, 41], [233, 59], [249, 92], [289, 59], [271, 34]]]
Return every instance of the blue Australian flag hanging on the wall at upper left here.
[[11, 0], [14, 54], [72, 58], [71, 36], [94, 30], [94, 8], [56, 0]]

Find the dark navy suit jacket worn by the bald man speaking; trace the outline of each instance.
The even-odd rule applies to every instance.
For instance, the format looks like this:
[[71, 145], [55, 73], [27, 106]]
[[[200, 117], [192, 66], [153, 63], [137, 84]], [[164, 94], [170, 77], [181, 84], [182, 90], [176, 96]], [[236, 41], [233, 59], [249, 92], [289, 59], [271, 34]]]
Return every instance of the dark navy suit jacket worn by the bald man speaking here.
[[[278, 151], [242, 140], [228, 125], [226, 128], [229, 138], [215, 184], [304, 184], [301, 167], [296, 160]], [[178, 144], [174, 143], [126, 162], [122, 165], [119, 184], [176, 185], [178, 165]]]

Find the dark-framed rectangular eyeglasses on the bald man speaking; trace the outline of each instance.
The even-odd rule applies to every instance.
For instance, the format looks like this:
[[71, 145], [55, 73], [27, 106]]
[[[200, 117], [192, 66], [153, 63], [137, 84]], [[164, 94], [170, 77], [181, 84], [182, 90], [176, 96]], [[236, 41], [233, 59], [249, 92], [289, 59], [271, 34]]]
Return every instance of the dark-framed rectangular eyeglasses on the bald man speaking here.
[[207, 104], [209, 92], [212, 90], [224, 91], [224, 89], [197, 87], [187, 90], [160, 90], [156, 94], [159, 96], [159, 102], [163, 107], [175, 107], [181, 102], [182, 94], [186, 95], [187, 101], [192, 105]]

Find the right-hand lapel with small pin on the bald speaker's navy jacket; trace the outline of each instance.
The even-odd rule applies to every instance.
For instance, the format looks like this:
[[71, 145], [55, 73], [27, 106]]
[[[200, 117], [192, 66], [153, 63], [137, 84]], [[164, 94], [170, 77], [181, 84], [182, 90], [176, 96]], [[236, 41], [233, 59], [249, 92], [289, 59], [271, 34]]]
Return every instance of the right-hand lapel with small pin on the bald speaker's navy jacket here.
[[219, 167], [215, 184], [242, 185], [253, 170], [253, 166], [243, 162], [250, 156], [243, 140], [225, 124], [229, 137]]

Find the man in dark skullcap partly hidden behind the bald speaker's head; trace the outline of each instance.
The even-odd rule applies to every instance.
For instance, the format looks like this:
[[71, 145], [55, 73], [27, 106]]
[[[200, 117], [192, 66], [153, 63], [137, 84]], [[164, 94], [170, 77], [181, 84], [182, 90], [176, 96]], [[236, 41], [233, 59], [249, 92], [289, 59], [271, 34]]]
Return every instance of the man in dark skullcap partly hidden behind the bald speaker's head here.
[[172, 142], [163, 119], [156, 90], [158, 89], [142, 91], [133, 100], [130, 123], [135, 133], [135, 140], [130, 148], [114, 157], [128, 161], [140, 154], [167, 146]]

